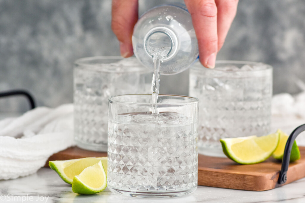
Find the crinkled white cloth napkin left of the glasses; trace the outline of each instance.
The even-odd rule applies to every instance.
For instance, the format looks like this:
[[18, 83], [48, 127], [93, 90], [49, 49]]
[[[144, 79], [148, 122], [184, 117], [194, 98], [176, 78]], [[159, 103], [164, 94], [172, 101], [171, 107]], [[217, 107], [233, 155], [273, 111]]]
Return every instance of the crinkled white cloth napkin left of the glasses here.
[[37, 107], [0, 121], [0, 180], [27, 176], [48, 158], [74, 145], [73, 104]]

